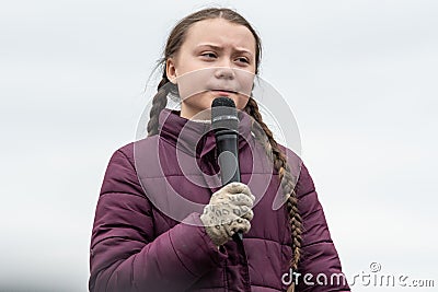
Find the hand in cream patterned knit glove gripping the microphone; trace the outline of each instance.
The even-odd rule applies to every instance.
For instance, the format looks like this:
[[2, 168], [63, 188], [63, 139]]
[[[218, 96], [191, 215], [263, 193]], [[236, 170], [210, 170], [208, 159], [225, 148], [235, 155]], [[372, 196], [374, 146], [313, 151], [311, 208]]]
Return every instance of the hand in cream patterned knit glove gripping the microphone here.
[[212, 194], [200, 220], [217, 246], [227, 243], [238, 231], [250, 231], [254, 200], [250, 188], [242, 183], [230, 183]]

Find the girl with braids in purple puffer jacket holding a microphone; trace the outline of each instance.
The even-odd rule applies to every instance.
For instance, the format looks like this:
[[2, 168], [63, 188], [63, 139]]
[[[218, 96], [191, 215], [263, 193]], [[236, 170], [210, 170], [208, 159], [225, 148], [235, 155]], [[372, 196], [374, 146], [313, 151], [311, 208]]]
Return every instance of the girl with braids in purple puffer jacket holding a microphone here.
[[[251, 92], [222, 86], [235, 71], [257, 74], [260, 60], [260, 37], [232, 10], [205, 9], [173, 28], [148, 137], [115, 151], [106, 170], [90, 291], [349, 291], [308, 170], [275, 141]], [[195, 72], [216, 85], [184, 93]], [[175, 93], [181, 110], [166, 108]], [[221, 187], [207, 118], [223, 95], [241, 110], [242, 183]], [[278, 194], [286, 203], [273, 210]]]

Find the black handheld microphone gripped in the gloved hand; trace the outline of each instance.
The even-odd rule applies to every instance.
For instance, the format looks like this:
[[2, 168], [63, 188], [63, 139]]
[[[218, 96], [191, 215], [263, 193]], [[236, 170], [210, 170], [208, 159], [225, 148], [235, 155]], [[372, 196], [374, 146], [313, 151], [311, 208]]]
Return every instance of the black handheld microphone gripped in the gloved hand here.
[[[215, 131], [216, 148], [220, 167], [222, 186], [229, 183], [240, 183], [239, 170], [239, 117], [233, 100], [219, 96], [211, 103], [211, 128]], [[243, 240], [243, 232], [233, 234], [233, 240]]]

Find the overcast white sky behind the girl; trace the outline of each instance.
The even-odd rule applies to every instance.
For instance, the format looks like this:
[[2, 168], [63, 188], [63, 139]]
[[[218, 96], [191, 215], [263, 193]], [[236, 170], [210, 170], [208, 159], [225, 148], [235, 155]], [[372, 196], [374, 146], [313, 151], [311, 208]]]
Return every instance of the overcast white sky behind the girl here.
[[[87, 291], [108, 159], [136, 138], [171, 27], [206, 3], [1, 5], [0, 291]], [[437, 287], [438, 1], [215, 3], [262, 36], [347, 278], [377, 261]]]

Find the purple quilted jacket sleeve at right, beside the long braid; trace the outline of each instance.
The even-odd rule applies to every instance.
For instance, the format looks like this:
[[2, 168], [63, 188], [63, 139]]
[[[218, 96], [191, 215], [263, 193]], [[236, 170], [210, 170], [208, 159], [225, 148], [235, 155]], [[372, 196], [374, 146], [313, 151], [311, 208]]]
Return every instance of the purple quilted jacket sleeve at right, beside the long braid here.
[[341, 261], [313, 180], [304, 164], [301, 165], [296, 189], [303, 222], [297, 291], [350, 291], [342, 273]]

